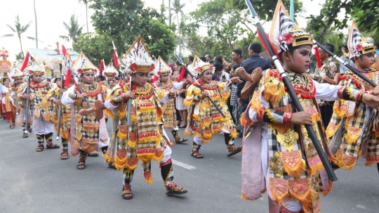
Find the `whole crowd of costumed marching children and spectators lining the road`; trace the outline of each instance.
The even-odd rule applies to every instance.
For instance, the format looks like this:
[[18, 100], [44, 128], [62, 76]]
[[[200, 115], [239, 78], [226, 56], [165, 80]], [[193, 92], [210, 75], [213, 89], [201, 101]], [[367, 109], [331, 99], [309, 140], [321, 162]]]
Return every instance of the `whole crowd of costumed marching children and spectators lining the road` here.
[[[333, 169], [350, 170], [361, 155], [367, 166], [379, 165], [379, 87], [374, 86], [379, 44], [361, 35], [353, 22], [340, 58], [365, 78], [335, 63], [331, 44], [315, 48], [319, 63], [312, 72], [312, 35], [288, 17], [281, 1], [272, 25], [270, 40], [283, 73], [259, 55], [258, 43], [248, 47], [245, 60], [241, 49], [234, 49], [232, 62], [206, 54], [189, 56], [185, 65], [167, 64], [161, 57], [154, 61], [138, 37], [119, 67], [97, 68], [81, 53], [68, 69], [62, 66], [62, 78], [48, 81], [44, 67], [33, 60], [14, 66], [1, 77], [0, 115], [11, 129], [22, 126], [23, 138], [34, 131], [36, 152], [61, 148], [61, 160], [79, 155], [77, 169], [86, 169], [87, 158], [101, 152], [109, 168], [122, 171], [126, 200], [133, 198], [131, 183], [140, 161], [147, 183], [156, 160], [166, 194], [187, 193], [173, 181], [173, 142], [193, 138], [190, 155], [199, 159], [204, 158], [201, 146], [215, 134], [225, 138], [228, 157], [242, 152], [234, 145], [242, 138], [242, 198], [256, 200], [267, 191], [270, 212], [318, 212], [319, 192], [327, 195], [333, 185], [305, 125], [314, 130]], [[8, 52], [1, 56], [6, 61]], [[295, 108], [288, 89], [304, 111]], [[112, 122], [110, 132], [107, 122]], [[61, 146], [53, 144], [53, 131]]]

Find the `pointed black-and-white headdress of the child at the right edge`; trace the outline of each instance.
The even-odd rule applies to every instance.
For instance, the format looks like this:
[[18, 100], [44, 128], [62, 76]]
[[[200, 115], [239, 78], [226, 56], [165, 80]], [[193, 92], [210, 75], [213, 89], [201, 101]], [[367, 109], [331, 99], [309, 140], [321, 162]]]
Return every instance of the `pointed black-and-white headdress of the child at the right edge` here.
[[367, 39], [359, 32], [355, 20], [353, 20], [352, 27], [350, 28], [347, 47], [349, 48], [350, 58], [354, 58], [354, 56], [359, 57], [367, 53], [375, 53], [376, 51], [376, 46], [369, 43]]

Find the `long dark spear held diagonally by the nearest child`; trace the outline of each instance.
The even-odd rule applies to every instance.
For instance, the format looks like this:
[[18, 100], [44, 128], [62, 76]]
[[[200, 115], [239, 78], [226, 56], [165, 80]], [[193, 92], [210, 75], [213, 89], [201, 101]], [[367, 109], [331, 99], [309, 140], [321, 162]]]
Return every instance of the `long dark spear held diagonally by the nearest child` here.
[[[246, 4], [251, 12], [251, 15], [253, 15], [253, 19], [255, 20], [255, 26], [258, 28], [258, 32], [262, 35], [262, 42], [264, 42], [267, 46], [268, 51], [270, 52], [270, 55], [272, 56], [272, 60], [274, 61], [275, 66], [277, 67], [277, 70], [279, 71], [281, 77], [283, 77], [283, 83], [287, 87], [287, 93], [292, 99], [293, 105], [298, 110], [298, 112], [304, 111], [302, 108], [302, 105], [300, 104], [300, 101], [298, 100], [298, 96], [296, 95], [295, 91], [293, 90], [291, 82], [288, 80], [288, 77], [286, 75], [286, 71], [284, 71], [283, 66], [281, 65], [281, 62], [277, 55], [275, 54], [274, 48], [271, 46], [270, 40], [267, 38], [267, 35], [265, 34], [265, 30], [263, 30], [262, 25], [260, 24], [259, 16], [257, 13], [255, 13], [255, 10], [253, 6], [251, 5], [251, 2], [249, 0], [245, 0]], [[321, 46], [320, 46], [321, 47]], [[322, 48], [321, 48], [322, 49]], [[328, 160], [328, 157], [326, 157], [324, 150], [321, 147], [321, 144], [319, 142], [319, 139], [317, 138], [316, 134], [314, 133], [314, 130], [312, 126], [305, 125], [305, 129], [307, 129], [308, 136], [312, 140], [314, 148], [317, 150], [317, 154], [320, 157], [320, 160], [325, 168], [326, 173], [328, 174], [328, 177], [330, 181], [337, 181], [337, 176], [335, 176], [335, 173], [333, 172], [333, 169], [331, 167], [331, 164]]]

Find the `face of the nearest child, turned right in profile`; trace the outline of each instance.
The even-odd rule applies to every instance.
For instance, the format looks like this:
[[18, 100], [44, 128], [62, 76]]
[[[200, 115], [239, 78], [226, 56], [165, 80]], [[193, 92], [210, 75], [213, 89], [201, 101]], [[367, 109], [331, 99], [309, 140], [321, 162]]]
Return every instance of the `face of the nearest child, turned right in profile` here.
[[283, 62], [286, 70], [295, 73], [305, 73], [310, 66], [312, 46], [300, 46], [293, 50], [293, 54], [287, 51], [283, 53]]

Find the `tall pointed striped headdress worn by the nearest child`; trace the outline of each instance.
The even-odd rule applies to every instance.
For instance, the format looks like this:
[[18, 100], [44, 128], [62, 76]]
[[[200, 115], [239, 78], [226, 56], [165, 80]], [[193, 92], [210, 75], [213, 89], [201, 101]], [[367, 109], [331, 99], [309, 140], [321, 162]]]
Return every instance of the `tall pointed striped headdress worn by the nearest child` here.
[[295, 46], [313, 45], [312, 35], [302, 30], [289, 18], [288, 12], [281, 0], [278, 1], [274, 18], [272, 18], [270, 40], [278, 53], [281, 50], [288, 51]]

